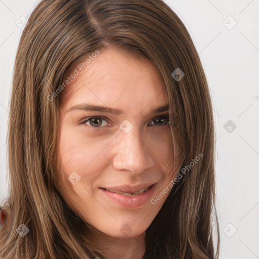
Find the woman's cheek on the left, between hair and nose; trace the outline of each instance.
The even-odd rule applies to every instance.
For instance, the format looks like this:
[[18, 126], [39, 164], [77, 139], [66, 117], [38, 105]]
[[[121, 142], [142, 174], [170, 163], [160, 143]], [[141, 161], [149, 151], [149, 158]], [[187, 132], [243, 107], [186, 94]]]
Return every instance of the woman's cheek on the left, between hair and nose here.
[[107, 161], [111, 161], [107, 148], [109, 142], [108, 138], [97, 140], [69, 128], [62, 130], [59, 144], [59, 182], [62, 190], [73, 192], [75, 186], [82, 184], [89, 191], [93, 189]]

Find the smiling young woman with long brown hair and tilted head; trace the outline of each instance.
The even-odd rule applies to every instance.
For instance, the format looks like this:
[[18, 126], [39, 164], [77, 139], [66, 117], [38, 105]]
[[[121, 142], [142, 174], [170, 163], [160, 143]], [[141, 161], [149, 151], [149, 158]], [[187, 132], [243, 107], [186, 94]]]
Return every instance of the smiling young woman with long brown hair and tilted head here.
[[165, 3], [41, 1], [10, 114], [1, 258], [218, 258], [209, 90]]

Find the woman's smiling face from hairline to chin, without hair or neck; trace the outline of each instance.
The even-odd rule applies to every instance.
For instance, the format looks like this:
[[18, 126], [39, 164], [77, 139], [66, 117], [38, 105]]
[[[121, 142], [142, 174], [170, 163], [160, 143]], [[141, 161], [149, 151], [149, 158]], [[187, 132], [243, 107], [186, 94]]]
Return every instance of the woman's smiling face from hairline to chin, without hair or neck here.
[[113, 48], [78, 71], [60, 106], [61, 195], [97, 230], [113, 237], [140, 235], [174, 177], [161, 78], [148, 59]]

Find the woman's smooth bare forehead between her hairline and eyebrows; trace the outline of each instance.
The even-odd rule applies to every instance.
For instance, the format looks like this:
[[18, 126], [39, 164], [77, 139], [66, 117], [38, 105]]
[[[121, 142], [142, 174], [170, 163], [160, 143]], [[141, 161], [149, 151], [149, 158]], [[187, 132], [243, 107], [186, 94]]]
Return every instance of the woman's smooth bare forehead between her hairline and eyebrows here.
[[81, 71], [78, 67], [70, 71], [74, 69], [78, 73], [63, 90], [62, 106], [88, 101], [125, 108], [140, 102], [166, 103], [162, 79], [145, 57], [108, 48], [100, 50]]

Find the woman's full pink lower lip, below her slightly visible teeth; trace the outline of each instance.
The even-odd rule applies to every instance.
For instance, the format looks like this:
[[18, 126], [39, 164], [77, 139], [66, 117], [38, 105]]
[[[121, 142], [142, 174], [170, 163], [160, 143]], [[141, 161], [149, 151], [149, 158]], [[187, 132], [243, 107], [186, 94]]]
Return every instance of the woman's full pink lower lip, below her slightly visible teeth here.
[[126, 196], [116, 192], [110, 192], [103, 189], [100, 189], [108, 198], [110, 198], [113, 202], [117, 204], [128, 207], [128, 208], [136, 208], [144, 205], [152, 196], [156, 189], [156, 185], [154, 184], [147, 191], [133, 196]]

